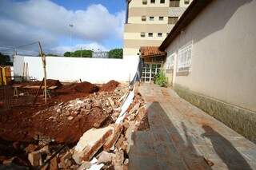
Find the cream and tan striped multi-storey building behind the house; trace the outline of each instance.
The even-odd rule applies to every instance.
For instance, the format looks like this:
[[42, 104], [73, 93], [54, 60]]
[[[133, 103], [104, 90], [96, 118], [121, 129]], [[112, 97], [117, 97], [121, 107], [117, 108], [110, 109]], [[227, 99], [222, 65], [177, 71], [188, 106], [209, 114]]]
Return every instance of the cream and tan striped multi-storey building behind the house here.
[[192, 0], [126, 0], [124, 57], [158, 46]]

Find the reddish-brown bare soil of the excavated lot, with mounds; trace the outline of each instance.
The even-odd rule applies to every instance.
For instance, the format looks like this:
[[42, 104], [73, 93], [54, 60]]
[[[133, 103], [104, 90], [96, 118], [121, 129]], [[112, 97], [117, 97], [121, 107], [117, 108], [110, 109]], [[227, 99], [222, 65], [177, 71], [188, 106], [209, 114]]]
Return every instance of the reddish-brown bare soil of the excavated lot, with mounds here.
[[[40, 83], [40, 81], [30, 82], [26, 83], [26, 85], [40, 85]], [[38, 97], [35, 105], [26, 105], [26, 102], [22, 102], [22, 98], [25, 97], [19, 97], [20, 105], [11, 109], [1, 110], [0, 137], [2, 140], [31, 141], [34, 140], [35, 135], [41, 133], [55, 138], [58, 142], [65, 142], [66, 140], [77, 141], [83, 132], [91, 128], [102, 117], [104, 113], [101, 108], [94, 107], [90, 110], [90, 114], [74, 117], [73, 120], [67, 120], [66, 117], [60, 116], [54, 122], [49, 119], [52, 114], [51, 110], [34, 115], [43, 109], [54, 107], [54, 105], [62, 102], [90, 97], [93, 93], [98, 95], [107, 91], [107, 93], [110, 93], [109, 95], [113, 95], [112, 93], [114, 93], [114, 89], [118, 84], [116, 81], [110, 81], [99, 88], [89, 82], [62, 85], [59, 81], [47, 80], [47, 85], [58, 86], [47, 105], [44, 104], [42, 97]]]

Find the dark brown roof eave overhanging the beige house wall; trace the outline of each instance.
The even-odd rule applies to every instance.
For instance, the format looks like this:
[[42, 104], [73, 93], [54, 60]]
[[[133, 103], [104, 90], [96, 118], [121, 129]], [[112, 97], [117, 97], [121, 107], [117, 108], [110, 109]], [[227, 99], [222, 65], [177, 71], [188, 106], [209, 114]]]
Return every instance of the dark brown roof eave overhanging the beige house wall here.
[[186, 9], [186, 11], [182, 14], [181, 18], [178, 19], [178, 22], [175, 24], [174, 28], [170, 31], [170, 34], [166, 37], [166, 39], [159, 46], [159, 49], [164, 51], [171, 42], [182, 32], [185, 30], [186, 26], [190, 24], [202, 12], [203, 9], [206, 8], [210, 2], [214, 0], [193, 0], [190, 6]]

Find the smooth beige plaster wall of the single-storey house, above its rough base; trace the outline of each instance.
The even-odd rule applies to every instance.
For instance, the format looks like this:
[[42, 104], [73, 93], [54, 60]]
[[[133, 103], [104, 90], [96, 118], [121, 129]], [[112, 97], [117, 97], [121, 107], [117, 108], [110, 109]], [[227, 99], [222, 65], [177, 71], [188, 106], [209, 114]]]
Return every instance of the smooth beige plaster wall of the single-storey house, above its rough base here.
[[174, 71], [174, 87], [256, 112], [255, 9], [255, 0], [210, 3], [166, 49], [193, 41], [191, 72]]

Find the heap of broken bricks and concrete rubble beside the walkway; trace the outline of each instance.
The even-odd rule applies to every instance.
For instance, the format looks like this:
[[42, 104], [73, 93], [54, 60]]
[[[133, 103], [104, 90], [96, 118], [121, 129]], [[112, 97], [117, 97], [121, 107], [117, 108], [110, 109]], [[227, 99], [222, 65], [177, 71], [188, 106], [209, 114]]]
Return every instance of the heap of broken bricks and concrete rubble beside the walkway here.
[[[34, 137], [37, 143], [23, 146], [27, 159], [14, 156], [2, 164], [12, 168], [22, 162], [23, 166], [38, 169], [128, 169], [128, 153], [133, 144], [131, 135], [138, 129], [148, 128], [145, 103], [134, 89], [118, 87], [114, 92], [94, 93], [34, 114], [34, 119], [38, 120], [47, 115], [46, 126], [54, 125], [62, 140], [52, 133], [47, 134], [44, 128], [44, 132]], [[89, 119], [88, 116], [94, 114], [100, 117], [86, 125], [88, 129], [75, 127], [79, 120]], [[77, 136], [72, 131], [70, 135], [62, 132], [62, 119], [75, 123], [70, 125], [74, 125], [74, 131], [79, 131]]]

